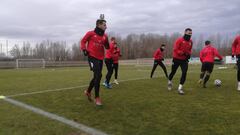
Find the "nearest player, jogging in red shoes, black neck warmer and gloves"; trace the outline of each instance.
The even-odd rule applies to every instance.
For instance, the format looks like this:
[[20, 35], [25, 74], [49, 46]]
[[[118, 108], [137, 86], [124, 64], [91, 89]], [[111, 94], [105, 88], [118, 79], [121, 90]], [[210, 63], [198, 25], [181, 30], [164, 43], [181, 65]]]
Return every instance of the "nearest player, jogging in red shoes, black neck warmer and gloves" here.
[[85, 56], [88, 56], [90, 69], [93, 71], [93, 78], [89, 87], [84, 91], [89, 101], [92, 101], [91, 91], [95, 89], [95, 104], [101, 106], [102, 102], [99, 96], [100, 81], [102, 78], [102, 67], [104, 59], [104, 47], [109, 49], [108, 36], [105, 34], [107, 29], [104, 15], [96, 21], [96, 28], [89, 31], [81, 40], [81, 50]]

